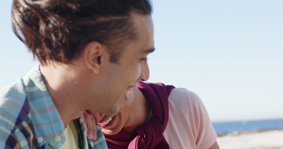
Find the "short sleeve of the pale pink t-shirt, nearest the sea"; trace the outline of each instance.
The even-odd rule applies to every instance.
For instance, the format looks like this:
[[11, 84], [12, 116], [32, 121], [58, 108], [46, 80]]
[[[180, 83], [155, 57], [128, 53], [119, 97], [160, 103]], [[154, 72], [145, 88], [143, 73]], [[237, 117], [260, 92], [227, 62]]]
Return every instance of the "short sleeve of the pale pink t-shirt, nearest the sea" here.
[[192, 91], [188, 91], [191, 98], [191, 108], [194, 116], [195, 132], [197, 149], [205, 149], [212, 146], [217, 138], [216, 132], [212, 126], [208, 112], [201, 101], [200, 97]]

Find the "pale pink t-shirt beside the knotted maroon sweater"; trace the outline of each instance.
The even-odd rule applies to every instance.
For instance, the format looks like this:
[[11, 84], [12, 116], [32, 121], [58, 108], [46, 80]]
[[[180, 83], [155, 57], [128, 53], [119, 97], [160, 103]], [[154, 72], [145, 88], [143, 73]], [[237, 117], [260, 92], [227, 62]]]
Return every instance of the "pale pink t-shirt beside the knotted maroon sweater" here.
[[163, 135], [170, 148], [207, 149], [215, 143], [216, 132], [198, 95], [175, 88], [168, 101], [169, 120]]

